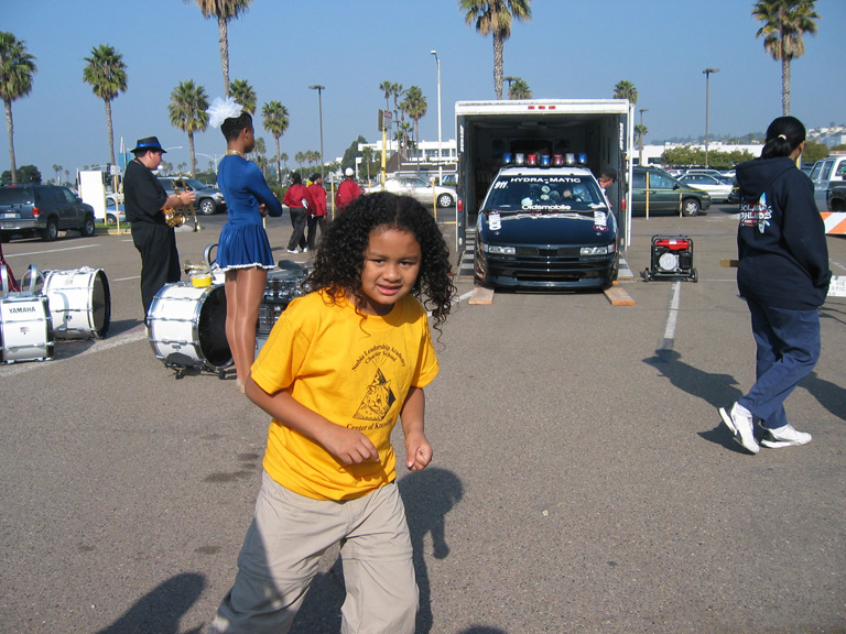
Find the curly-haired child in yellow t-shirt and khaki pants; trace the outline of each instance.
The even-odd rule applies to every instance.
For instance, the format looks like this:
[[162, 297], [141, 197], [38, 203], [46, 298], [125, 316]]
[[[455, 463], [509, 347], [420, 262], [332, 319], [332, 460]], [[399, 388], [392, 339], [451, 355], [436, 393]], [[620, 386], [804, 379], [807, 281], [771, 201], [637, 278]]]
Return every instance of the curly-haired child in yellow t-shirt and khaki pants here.
[[417, 587], [391, 430], [424, 469], [423, 387], [437, 374], [455, 287], [448, 249], [409, 197], [356, 199], [328, 228], [306, 282], [252, 365], [247, 395], [273, 420], [235, 584], [209, 632], [288, 632], [321, 555], [341, 544], [344, 631], [412, 634]]

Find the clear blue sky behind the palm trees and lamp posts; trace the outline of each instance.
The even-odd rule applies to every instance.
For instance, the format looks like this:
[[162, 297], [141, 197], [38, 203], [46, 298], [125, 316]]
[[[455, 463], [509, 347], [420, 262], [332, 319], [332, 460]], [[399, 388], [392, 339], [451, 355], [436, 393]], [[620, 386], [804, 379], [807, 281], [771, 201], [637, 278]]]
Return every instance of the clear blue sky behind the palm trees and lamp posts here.
[[[18, 165], [45, 178], [53, 164], [73, 174], [108, 161], [102, 100], [83, 84], [84, 57], [115, 46], [129, 88], [112, 101], [116, 152], [155, 134], [187, 163], [187, 138], [170, 124], [167, 103], [193, 79], [209, 100], [223, 94], [217, 23], [192, 0], [0, 0], [0, 30], [23, 40], [39, 67], [33, 90], [13, 105]], [[711, 76], [709, 131], [745, 135], [781, 114], [781, 65], [755, 37], [751, 0], [534, 0], [533, 18], [516, 23], [505, 48], [506, 75], [522, 77], [538, 98], [609, 98], [632, 81], [637, 108], [649, 111], [647, 141], [705, 131], [705, 76]], [[805, 125], [846, 123], [846, 1], [817, 0], [818, 32], [792, 68], [791, 113]], [[417, 85], [429, 102], [421, 136], [437, 140], [441, 59], [443, 138], [455, 136], [453, 105], [492, 99], [494, 51], [464, 23], [456, 0], [254, 0], [230, 23], [230, 79], [247, 79], [259, 105], [279, 100], [291, 123], [282, 151], [319, 150], [317, 92], [323, 91], [324, 155], [339, 156], [357, 138], [377, 140], [379, 84]], [[4, 119], [4, 118], [3, 118]], [[259, 117], [260, 119], [260, 117]], [[259, 125], [257, 125], [259, 128]], [[0, 133], [8, 141], [6, 125]], [[262, 129], [270, 154], [273, 138]], [[8, 142], [0, 171], [9, 168]], [[196, 136], [197, 152], [220, 154], [219, 130]], [[204, 167], [207, 160], [198, 156]]]

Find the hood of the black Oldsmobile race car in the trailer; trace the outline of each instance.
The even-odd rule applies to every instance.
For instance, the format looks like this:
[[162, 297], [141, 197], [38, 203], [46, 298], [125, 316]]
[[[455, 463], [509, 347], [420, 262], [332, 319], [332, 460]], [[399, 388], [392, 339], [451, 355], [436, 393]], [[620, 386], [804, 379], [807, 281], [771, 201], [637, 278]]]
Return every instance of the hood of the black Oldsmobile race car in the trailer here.
[[501, 215], [486, 211], [482, 216], [484, 237], [494, 244], [609, 244], [616, 237], [614, 217], [604, 210]]

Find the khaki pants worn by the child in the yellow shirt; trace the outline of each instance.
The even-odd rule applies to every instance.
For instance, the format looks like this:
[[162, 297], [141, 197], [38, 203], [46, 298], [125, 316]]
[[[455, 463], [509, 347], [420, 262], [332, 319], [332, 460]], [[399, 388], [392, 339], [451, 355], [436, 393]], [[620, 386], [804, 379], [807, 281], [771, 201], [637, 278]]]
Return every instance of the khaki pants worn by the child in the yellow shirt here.
[[288, 632], [321, 556], [338, 543], [347, 589], [341, 633], [413, 634], [417, 584], [397, 485], [332, 502], [293, 493], [267, 473], [235, 584], [209, 633]]

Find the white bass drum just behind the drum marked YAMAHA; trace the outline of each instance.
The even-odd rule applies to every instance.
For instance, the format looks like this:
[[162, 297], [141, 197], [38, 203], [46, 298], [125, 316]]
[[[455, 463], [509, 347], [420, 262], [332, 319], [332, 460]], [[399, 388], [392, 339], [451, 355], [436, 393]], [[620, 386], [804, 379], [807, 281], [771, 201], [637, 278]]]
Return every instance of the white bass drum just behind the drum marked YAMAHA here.
[[111, 292], [102, 270], [47, 271], [42, 294], [57, 339], [102, 339], [109, 331]]

